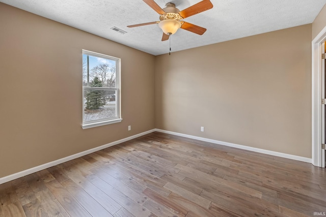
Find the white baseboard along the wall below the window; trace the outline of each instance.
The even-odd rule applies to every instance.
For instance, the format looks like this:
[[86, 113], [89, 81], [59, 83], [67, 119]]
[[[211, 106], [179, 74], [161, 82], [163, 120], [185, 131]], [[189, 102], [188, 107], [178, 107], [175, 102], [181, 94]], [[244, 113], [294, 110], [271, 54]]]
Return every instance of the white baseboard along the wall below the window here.
[[71, 161], [71, 160], [79, 158], [79, 157], [83, 157], [83, 156], [85, 156], [87, 154], [90, 154], [90, 153], [93, 153], [95, 151], [102, 150], [104, 148], [108, 148], [108, 147], [120, 144], [122, 142], [126, 142], [126, 141], [129, 141], [131, 139], [135, 139], [135, 138], [138, 138], [140, 136], [144, 136], [144, 135], [152, 133], [152, 132], [155, 132], [155, 130], [154, 129], [149, 130], [149, 131], [137, 134], [137, 135], [133, 135], [133, 136], [130, 136], [130, 137], [127, 137], [127, 138], [124, 138], [124, 139], [120, 139], [120, 140], [115, 141], [115, 142], [111, 142], [111, 143], [108, 143], [108, 144], [105, 144], [105, 145], [101, 145], [101, 146], [96, 147], [96, 148], [92, 148], [92, 149], [89, 149], [89, 150], [86, 150], [86, 151], [76, 153], [76, 154], [73, 154], [71, 156], [56, 160], [56, 161], [52, 161], [52, 162], [49, 162], [49, 163], [46, 163], [46, 164], [42, 164], [40, 166], [36, 166], [36, 167], [30, 168], [30, 169], [27, 169], [27, 170], [23, 170], [21, 172], [17, 172], [17, 173], [2, 177], [2, 178], [0, 178], [0, 184], [11, 181], [11, 180], [14, 180], [16, 178], [23, 177], [25, 175], [29, 175], [29, 174], [38, 172], [40, 170], [44, 170], [44, 169], [56, 166], [58, 164], [62, 164], [62, 163], [67, 162], [67, 161]]

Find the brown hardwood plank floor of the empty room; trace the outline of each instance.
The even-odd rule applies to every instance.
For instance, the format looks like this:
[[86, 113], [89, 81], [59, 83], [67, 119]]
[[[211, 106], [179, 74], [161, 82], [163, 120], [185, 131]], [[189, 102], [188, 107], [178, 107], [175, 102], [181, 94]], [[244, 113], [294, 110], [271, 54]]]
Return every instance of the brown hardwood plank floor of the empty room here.
[[314, 216], [324, 168], [151, 133], [0, 185], [9, 216]]

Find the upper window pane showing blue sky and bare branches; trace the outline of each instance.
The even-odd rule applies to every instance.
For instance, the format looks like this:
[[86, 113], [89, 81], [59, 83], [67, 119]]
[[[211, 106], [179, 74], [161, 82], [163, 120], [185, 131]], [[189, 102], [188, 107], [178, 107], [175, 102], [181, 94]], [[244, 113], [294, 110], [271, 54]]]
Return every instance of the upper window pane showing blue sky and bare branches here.
[[93, 86], [97, 77], [102, 87], [116, 87], [117, 61], [83, 54], [83, 86]]

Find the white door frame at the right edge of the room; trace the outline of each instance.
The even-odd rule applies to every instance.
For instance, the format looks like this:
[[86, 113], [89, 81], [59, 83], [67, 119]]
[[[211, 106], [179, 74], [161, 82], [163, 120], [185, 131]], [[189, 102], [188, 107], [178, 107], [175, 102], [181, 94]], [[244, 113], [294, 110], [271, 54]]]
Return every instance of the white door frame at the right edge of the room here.
[[312, 40], [312, 78], [311, 78], [311, 97], [312, 97], [312, 164], [322, 166], [321, 149], [321, 92], [322, 92], [322, 43], [326, 41], [326, 26]]

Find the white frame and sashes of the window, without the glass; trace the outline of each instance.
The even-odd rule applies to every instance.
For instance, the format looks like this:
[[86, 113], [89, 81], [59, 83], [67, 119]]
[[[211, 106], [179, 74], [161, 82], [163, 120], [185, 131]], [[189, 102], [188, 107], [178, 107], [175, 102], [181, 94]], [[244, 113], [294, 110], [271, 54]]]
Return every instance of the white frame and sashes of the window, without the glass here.
[[[103, 126], [103, 125], [110, 125], [111, 123], [121, 122], [122, 121], [121, 97], [120, 97], [121, 96], [121, 92], [120, 92], [121, 59], [114, 57], [114, 56], [108, 56], [105, 54], [96, 53], [96, 52], [88, 51], [88, 50], [83, 50], [83, 55], [84, 54], [89, 55], [89, 56], [95, 56], [95, 57], [100, 57], [100, 58], [105, 58], [105, 59], [110, 59], [110, 60], [116, 61], [116, 87], [85, 87], [84, 85], [82, 85], [83, 86], [83, 124], [82, 124], [82, 128], [88, 129], [88, 128], [94, 128], [94, 127], [99, 127], [99, 126]], [[84, 121], [84, 110], [85, 110], [84, 92], [87, 89], [115, 90], [116, 91], [116, 114], [117, 114], [117, 116], [112, 117], [112, 118]]]

